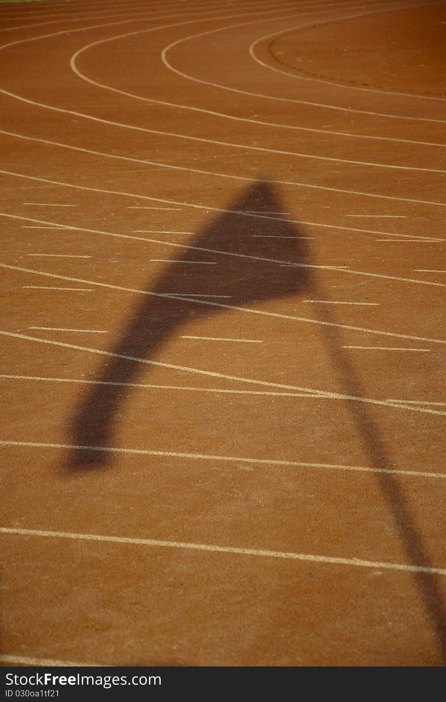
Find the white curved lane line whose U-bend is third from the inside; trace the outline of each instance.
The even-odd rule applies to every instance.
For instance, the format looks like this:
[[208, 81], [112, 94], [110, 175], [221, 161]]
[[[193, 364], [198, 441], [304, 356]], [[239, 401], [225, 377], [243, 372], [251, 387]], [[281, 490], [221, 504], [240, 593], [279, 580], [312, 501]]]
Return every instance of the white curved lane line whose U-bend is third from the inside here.
[[[79, 68], [76, 65], [76, 60], [79, 58], [79, 56], [86, 52], [89, 51], [91, 48], [95, 46], [99, 46], [100, 44], [107, 44], [109, 41], [117, 41], [118, 39], [126, 39], [127, 37], [132, 37], [137, 34], [144, 34], [144, 32], [151, 31], [150, 29], [140, 29], [137, 32], [128, 32], [127, 34], [119, 34], [115, 37], [108, 37], [107, 39], [99, 39], [98, 41], [92, 41], [90, 44], [87, 44], [86, 46], [83, 46], [80, 48], [78, 51], [76, 51], [73, 55], [72, 58], [70, 59], [70, 66], [72, 67], [72, 71], [79, 76], [79, 78], [83, 79], [84, 81], [87, 81], [91, 85], [96, 86], [97, 88], [102, 88], [104, 90], [111, 91], [113, 93], [119, 93], [120, 95], [126, 95], [129, 98], [134, 98], [136, 100], [142, 100], [143, 102], [151, 102], [152, 104], [156, 105], [165, 105], [166, 107], [175, 107], [175, 109], [180, 109], [180, 110], [189, 110], [191, 112], [201, 112], [203, 114], [211, 114], [212, 117], [222, 117], [223, 119], [232, 119], [234, 121], [241, 121], [241, 122], [246, 122], [248, 124], [262, 124], [264, 126], [271, 126], [271, 127], [276, 127], [276, 128], [281, 128], [281, 129], [295, 129], [299, 131], [305, 131], [305, 132], [310, 132], [310, 133], [316, 133], [316, 134], [330, 134], [330, 135], [335, 135], [335, 136], [342, 136], [346, 138], [356, 138], [356, 139], [372, 139], [372, 140], [378, 140], [378, 141], [391, 141], [391, 142], [398, 142], [398, 143], [403, 143], [403, 144], [417, 144], [417, 145], [423, 145], [423, 146], [436, 146], [436, 147], [442, 147], [446, 148], [446, 144], [440, 144], [440, 143], [435, 143], [435, 142], [427, 142], [427, 141], [417, 141], [413, 139], [398, 139], [395, 137], [386, 137], [386, 136], [374, 136], [374, 135], [369, 135], [369, 134], [352, 134], [349, 132], [342, 132], [342, 131], [333, 131], [332, 129], [316, 129], [316, 128], [311, 128], [311, 127], [302, 127], [302, 126], [295, 126], [295, 125], [290, 125], [290, 124], [278, 124], [277, 122], [266, 122], [262, 121], [259, 119], [249, 119], [248, 117], [234, 117], [232, 114], [227, 114], [225, 112], [215, 112], [215, 110], [205, 110], [203, 107], [190, 107], [189, 105], [181, 105], [180, 103], [177, 102], [166, 102], [165, 100], [155, 100], [154, 98], [146, 98], [142, 95], [137, 95], [136, 93], [129, 93], [128, 91], [123, 91], [119, 90], [119, 88], [113, 88], [112, 86], [103, 84], [103, 83], [98, 83], [97, 81], [93, 80], [92, 78], [86, 76], [85, 73], [82, 73]], [[376, 164], [378, 165], [378, 164]], [[431, 170], [431, 169], [428, 169]], [[440, 171], [444, 173], [444, 171]]]

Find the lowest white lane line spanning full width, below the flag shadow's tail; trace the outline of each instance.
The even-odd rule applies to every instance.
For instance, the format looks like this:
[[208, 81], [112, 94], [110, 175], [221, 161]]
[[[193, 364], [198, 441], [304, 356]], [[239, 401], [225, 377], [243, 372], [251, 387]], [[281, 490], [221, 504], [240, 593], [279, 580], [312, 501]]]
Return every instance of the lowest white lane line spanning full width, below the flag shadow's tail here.
[[426, 566], [407, 565], [405, 563], [391, 563], [367, 561], [362, 558], [339, 558], [336, 556], [323, 556], [313, 553], [293, 553], [286, 551], [269, 551], [259, 548], [240, 548], [238, 546], [220, 546], [210, 543], [190, 543], [187, 541], [161, 541], [155, 538], [132, 538], [130, 536], [104, 536], [103, 534], [76, 534], [69, 531], [43, 531], [41, 529], [13, 529], [0, 527], [1, 534], [16, 534], [18, 536], [40, 536], [48, 538], [69, 538], [83, 541], [103, 541], [106, 543], [128, 543], [140, 546], [153, 546], [155, 548], [190, 549], [194, 551], [210, 551], [214, 553], [231, 553], [243, 556], [260, 556], [266, 558], [285, 558], [296, 561], [312, 563], [330, 563], [333, 565], [355, 566], [362, 568], [388, 569], [407, 571], [410, 573], [431, 573], [446, 575], [445, 568], [428, 568]]

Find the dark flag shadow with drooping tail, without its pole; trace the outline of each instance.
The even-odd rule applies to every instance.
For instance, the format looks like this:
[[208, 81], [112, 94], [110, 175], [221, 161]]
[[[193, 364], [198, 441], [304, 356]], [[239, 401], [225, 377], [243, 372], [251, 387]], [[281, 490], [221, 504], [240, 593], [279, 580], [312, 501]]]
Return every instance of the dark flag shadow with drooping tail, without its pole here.
[[[248, 217], [247, 213], [263, 214], [271, 219]], [[195, 303], [175, 297], [141, 296], [112, 353], [152, 358], [184, 323], [220, 312], [219, 307], [203, 305], [199, 300], [246, 305], [296, 295], [309, 289], [311, 284], [311, 269], [275, 262], [306, 264], [309, 263], [309, 251], [304, 234], [286, 220], [283, 204], [268, 183], [252, 185], [228, 211], [215, 218], [194, 241], [189, 241], [188, 246], [219, 250], [229, 255], [194, 248], [176, 248], [172, 253], [172, 249], [166, 246], [166, 258], [175, 262], [166, 264], [161, 279], [151, 292], [186, 297], [191, 293], [221, 295], [222, 298], [198, 297]], [[109, 357], [96, 380], [100, 383], [135, 383], [141, 371], [141, 364], [136, 361]], [[92, 385], [74, 416], [73, 444], [111, 446], [116, 413], [127, 394], [128, 388], [122, 385]], [[69, 456], [69, 468], [94, 468], [107, 463], [111, 455], [107, 451], [75, 450]]]

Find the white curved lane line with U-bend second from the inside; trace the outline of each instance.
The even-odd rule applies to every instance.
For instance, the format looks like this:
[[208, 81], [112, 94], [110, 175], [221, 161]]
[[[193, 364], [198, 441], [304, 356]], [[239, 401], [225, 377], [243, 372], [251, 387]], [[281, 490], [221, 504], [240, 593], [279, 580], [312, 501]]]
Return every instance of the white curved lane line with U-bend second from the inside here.
[[[293, 16], [296, 16], [296, 15], [288, 15], [288, 17], [281, 18], [281, 19], [285, 20], [285, 19], [291, 18]], [[279, 19], [279, 18], [277, 18], [277, 19]], [[262, 21], [262, 20], [259, 20], [259, 21]], [[310, 102], [309, 100], [295, 100], [293, 98], [279, 98], [279, 97], [276, 97], [275, 95], [264, 95], [263, 93], [252, 93], [250, 91], [244, 91], [244, 90], [241, 90], [239, 88], [231, 88], [229, 86], [224, 86], [224, 85], [219, 84], [219, 83], [212, 83], [210, 81], [201, 80], [199, 78], [191, 76], [190, 74], [181, 72], [179, 69], [174, 68], [173, 65], [170, 64], [170, 62], [168, 62], [168, 59], [167, 59], [168, 51], [170, 51], [170, 49], [172, 49], [174, 46], [177, 46], [178, 44], [183, 44], [186, 41], [191, 41], [192, 39], [198, 39], [199, 37], [204, 37], [208, 34], [214, 34], [215, 32], [222, 32], [222, 31], [224, 31], [224, 29], [233, 29], [234, 27], [245, 27], [248, 24], [251, 24], [251, 22], [243, 22], [243, 24], [241, 24], [241, 25], [231, 25], [229, 27], [219, 27], [218, 29], [211, 29], [208, 32], [201, 32], [200, 34], [193, 34], [190, 37], [183, 37], [183, 39], [178, 39], [177, 41], [173, 41], [172, 44], [169, 44], [169, 46], [166, 46], [163, 49], [163, 52], [161, 53], [161, 59], [163, 60], [163, 63], [165, 64], [165, 66], [168, 67], [168, 69], [170, 69], [174, 73], [177, 73], [178, 75], [182, 76], [183, 78], [186, 78], [190, 81], [194, 81], [195, 83], [203, 84], [206, 86], [212, 86], [214, 88], [220, 88], [221, 90], [227, 90], [227, 91], [230, 91], [231, 93], [240, 93], [241, 95], [251, 95], [252, 97], [264, 98], [266, 100], [274, 100], [274, 101], [281, 101], [281, 102], [296, 102], [299, 105], [311, 105], [311, 107], [322, 107], [322, 108], [325, 108], [327, 110], [340, 110], [342, 112], [354, 112], [356, 114], [371, 114], [374, 117], [386, 117], [389, 119], [408, 119], [410, 121], [433, 121], [433, 122], [438, 122], [440, 124], [445, 124], [444, 119], [431, 119], [431, 118], [427, 118], [427, 117], [405, 117], [404, 115], [400, 115], [400, 114], [371, 112], [368, 110], [353, 110], [351, 107], [338, 107], [335, 105], [326, 105], [323, 102]], [[311, 24], [313, 24], [313, 22]], [[305, 26], [305, 25], [301, 25], [301, 26]], [[283, 30], [282, 30], [282, 32], [283, 32]], [[121, 38], [121, 37], [119, 37], [119, 38]], [[116, 37], [116, 39], [118, 39], [118, 37]], [[263, 37], [263, 39], [264, 39], [264, 37]], [[259, 40], [257, 40], [257, 41], [259, 41]], [[87, 49], [87, 48], [88, 48], [88, 46], [84, 47], [84, 49]], [[78, 53], [80, 53], [80, 52], [78, 52]], [[74, 57], [76, 57], [76, 54], [74, 54]], [[257, 58], [255, 58], [255, 60], [257, 61]], [[271, 66], [267, 66], [267, 67], [271, 68]], [[73, 69], [75, 69], [75, 67]], [[274, 70], [274, 69], [271, 68], [271, 70]], [[278, 71], [278, 72], [280, 72], [280, 71]], [[78, 74], [80, 77], [83, 77], [86, 80], [90, 81], [90, 79], [87, 79], [86, 77], [82, 76], [82, 74], [80, 74], [79, 72], [78, 72]], [[93, 81], [90, 81], [90, 82], [93, 82]], [[100, 87], [107, 88], [107, 86], [102, 86], [101, 84], [97, 84], [97, 85], [99, 85]], [[109, 89], [113, 89], [113, 88], [109, 88]], [[137, 95], [132, 95], [132, 96], [137, 98]], [[276, 125], [273, 125], [273, 126], [276, 126]]]

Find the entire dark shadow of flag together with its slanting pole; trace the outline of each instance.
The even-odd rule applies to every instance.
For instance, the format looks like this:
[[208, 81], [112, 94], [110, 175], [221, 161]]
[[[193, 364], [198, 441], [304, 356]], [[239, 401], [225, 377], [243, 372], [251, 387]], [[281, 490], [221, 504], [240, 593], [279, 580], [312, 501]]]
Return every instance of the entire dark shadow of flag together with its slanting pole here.
[[[259, 182], [232, 204], [231, 211], [216, 218], [193, 242], [189, 242], [189, 246], [220, 249], [242, 255], [241, 257], [194, 249], [175, 249], [176, 252], [182, 252], [175, 253], [177, 261], [216, 261], [217, 265], [171, 263], [156, 287], [149, 292], [172, 296], [142, 296], [133, 317], [129, 319], [121, 338], [112, 349], [115, 356], [109, 357], [100, 370], [97, 377], [99, 384], [91, 386], [75, 413], [72, 421], [72, 444], [79, 448], [74, 449], [69, 456], [67, 469], [99, 468], [112, 460], [113, 454], [107, 452], [107, 446], [112, 446], [116, 416], [131, 391], [131, 388], [119, 383], [135, 383], [143, 366], [137, 360], [121, 357], [152, 358], [170, 335], [180, 331], [182, 324], [220, 309], [200, 304], [198, 299], [196, 302], [179, 300], [172, 293], [194, 292], [203, 296], [231, 296], [201, 299], [215, 299], [218, 303], [236, 306], [295, 296], [304, 292], [311, 293], [315, 300], [329, 299], [327, 292], [323, 290], [320, 275], [315, 274], [315, 269], [277, 263], [289, 261], [312, 265], [305, 232], [286, 219], [272, 219], [281, 215], [271, 213], [281, 213], [282, 208], [283, 205], [271, 186]], [[270, 215], [271, 219], [246, 216], [254, 211], [264, 213], [264, 216]], [[247, 256], [255, 258], [246, 258]], [[384, 439], [370, 406], [361, 402], [365, 393], [349, 355], [343, 349], [345, 343], [342, 333], [339, 327], [332, 326], [336, 324], [336, 319], [332, 312], [327, 311], [326, 305], [316, 303], [316, 310], [320, 322], [325, 322], [320, 328], [334, 372], [342, 383], [342, 393], [358, 398], [344, 402], [349, 407], [369, 457], [370, 466], [379, 471], [392, 471], [391, 457], [386, 451]], [[104, 450], [89, 451], [89, 446], [100, 446]], [[446, 614], [438, 588], [439, 576], [428, 572], [432, 568], [430, 557], [398, 475], [392, 472], [377, 472], [376, 475], [383, 498], [396, 524], [407, 562], [416, 568], [414, 580], [446, 660]]]

